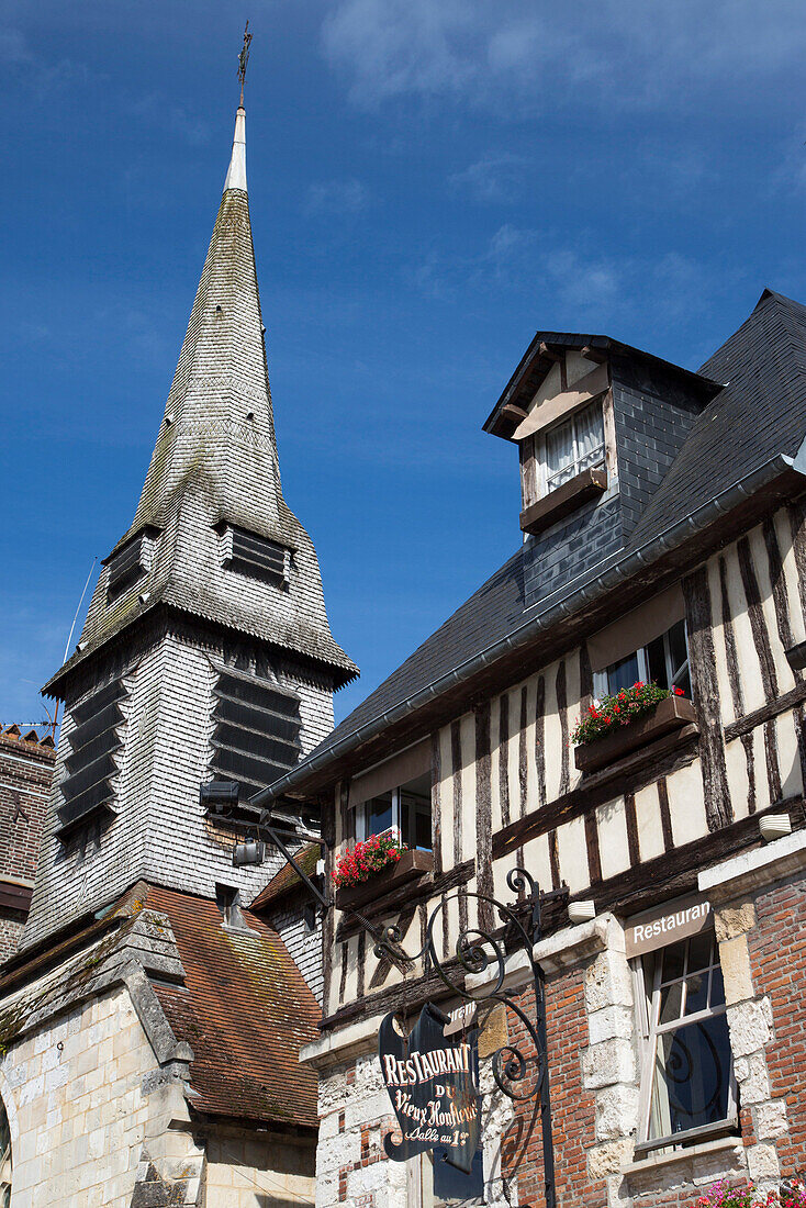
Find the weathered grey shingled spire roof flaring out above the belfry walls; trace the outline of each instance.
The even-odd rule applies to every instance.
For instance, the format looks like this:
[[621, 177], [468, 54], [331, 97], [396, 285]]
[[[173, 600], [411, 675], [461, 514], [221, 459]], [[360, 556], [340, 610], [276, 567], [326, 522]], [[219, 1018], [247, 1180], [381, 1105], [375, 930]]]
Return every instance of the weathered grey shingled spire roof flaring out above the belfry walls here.
[[[286, 590], [225, 570], [227, 523], [292, 551]], [[283, 498], [245, 188], [221, 197], [140, 503], [112, 554], [143, 533], [146, 573], [110, 599], [104, 559], [79, 649], [46, 691], [160, 604], [307, 656], [338, 685], [358, 674], [330, 632], [313, 542]]]

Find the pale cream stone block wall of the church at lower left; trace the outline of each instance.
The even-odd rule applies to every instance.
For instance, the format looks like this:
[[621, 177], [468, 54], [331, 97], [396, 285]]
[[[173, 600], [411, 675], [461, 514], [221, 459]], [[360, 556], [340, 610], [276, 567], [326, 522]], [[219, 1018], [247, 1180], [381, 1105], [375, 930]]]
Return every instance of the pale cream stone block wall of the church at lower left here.
[[10, 1046], [0, 1096], [11, 1126], [15, 1208], [129, 1208], [138, 1183], [157, 1191], [168, 1175], [163, 1185], [174, 1198], [141, 1195], [141, 1203], [196, 1203], [202, 1157], [187, 1134], [166, 1139], [170, 1104], [160, 1086], [150, 1087], [155, 1065], [122, 987]]

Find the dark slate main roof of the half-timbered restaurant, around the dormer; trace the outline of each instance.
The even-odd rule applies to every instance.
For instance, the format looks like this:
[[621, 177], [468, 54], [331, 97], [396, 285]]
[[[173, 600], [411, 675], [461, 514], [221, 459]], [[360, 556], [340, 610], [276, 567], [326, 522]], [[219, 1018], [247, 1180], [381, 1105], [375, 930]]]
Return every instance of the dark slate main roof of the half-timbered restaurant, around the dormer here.
[[[617, 567], [630, 553], [776, 454], [796, 454], [806, 437], [805, 337], [806, 307], [765, 290], [746, 323], [702, 366], [702, 378], [729, 384], [695, 419], [628, 542], [597, 564], [597, 576]], [[576, 341], [590, 343], [604, 338], [580, 336]], [[563, 539], [562, 533], [558, 540]], [[521, 546], [297, 765], [289, 777], [295, 788], [305, 784], [313, 761], [319, 765], [319, 776], [326, 753], [349, 741], [361, 727], [382, 725], [381, 719], [390, 710], [480, 652], [516, 634], [528, 622], [534, 611], [526, 608], [524, 597], [524, 565], [529, 551], [529, 542]], [[580, 575], [572, 563], [563, 586], [540, 598], [538, 610], [545, 611], [569, 597], [592, 575], [592, 571]], [[285, 779], [278, 782], [272, 792], [282, 790]]]

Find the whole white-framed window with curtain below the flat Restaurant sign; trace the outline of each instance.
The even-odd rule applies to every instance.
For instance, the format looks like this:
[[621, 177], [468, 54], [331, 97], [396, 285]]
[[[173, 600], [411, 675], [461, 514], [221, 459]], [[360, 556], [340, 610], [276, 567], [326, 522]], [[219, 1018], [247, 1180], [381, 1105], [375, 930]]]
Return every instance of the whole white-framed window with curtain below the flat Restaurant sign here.
[[713, 930], [640, 957], [636, 999], [643, 1039], [637, 1149], [730, 1131], [736, 1090]]

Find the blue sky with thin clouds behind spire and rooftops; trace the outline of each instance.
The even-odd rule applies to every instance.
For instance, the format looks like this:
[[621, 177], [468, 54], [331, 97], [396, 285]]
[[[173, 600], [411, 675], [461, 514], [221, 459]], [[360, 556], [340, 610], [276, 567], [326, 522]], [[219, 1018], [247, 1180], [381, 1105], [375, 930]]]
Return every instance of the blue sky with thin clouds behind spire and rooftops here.
[[[696, 367], [806, 301], [800, 0], [6, 0], [0, 720], [44, 716], [128, 527], [228, 158], [280, 464], [363, 679], [516, 548], [481, 424], [539, 327]], [[74, 639], [75, 640], [75, 639]]]

